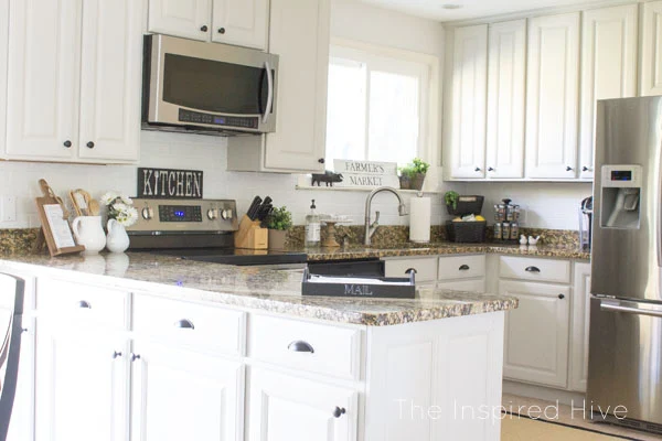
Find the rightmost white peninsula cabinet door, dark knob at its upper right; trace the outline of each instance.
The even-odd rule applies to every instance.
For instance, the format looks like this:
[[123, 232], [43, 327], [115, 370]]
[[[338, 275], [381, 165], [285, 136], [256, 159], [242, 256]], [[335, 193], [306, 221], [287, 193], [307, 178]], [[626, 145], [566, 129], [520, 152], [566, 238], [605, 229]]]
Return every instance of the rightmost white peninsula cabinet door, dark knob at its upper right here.
[[252, 369], [248, 441], [353, 441], [356, 392]]

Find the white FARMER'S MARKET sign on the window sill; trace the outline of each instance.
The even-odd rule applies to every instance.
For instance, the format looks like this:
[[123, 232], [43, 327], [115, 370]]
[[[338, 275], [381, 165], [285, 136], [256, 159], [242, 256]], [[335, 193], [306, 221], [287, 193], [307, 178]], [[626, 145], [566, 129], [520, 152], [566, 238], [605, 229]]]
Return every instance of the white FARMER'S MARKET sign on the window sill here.
[[337, 186], [377, 187], [387, 185], [399, 187], [397, 163], [395, 162], [335, 159], [333, 160], [333, 171], [343, 176], [342, 182], [337, 183]]

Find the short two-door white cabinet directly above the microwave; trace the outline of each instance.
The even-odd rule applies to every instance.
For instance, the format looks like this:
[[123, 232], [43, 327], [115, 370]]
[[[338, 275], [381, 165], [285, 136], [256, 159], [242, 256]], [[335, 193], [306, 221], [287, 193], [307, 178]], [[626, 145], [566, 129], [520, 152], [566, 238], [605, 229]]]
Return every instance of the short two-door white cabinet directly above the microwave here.
[[149, 0], [149, 32], [267, 49], [268, 0]]

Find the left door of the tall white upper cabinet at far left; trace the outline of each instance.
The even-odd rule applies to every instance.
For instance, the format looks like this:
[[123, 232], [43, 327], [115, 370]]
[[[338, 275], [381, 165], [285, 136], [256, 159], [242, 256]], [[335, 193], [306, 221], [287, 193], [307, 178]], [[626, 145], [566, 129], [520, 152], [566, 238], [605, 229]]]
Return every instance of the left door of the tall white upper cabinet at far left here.
[[78, 143], [79, 0], [12, 0], [7, 155], [70, 160]]

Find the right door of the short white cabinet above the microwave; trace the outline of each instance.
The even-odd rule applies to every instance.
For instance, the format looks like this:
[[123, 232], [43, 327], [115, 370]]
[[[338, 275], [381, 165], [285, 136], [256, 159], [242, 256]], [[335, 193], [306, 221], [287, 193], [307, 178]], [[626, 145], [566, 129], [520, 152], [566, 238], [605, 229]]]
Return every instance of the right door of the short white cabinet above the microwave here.
[[269, 0], [214, 0], [212, 41], [267, 49]]

